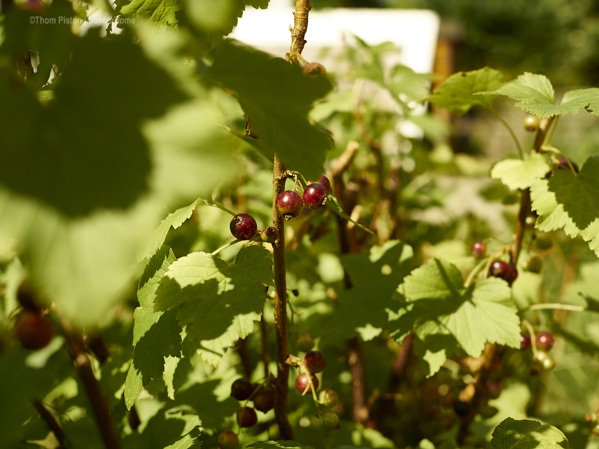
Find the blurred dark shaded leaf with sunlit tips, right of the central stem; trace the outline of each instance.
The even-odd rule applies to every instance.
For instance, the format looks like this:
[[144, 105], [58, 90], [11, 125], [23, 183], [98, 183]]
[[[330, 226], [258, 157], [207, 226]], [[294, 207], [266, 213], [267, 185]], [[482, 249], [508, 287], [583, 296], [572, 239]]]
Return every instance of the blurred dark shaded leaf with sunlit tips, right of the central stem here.
[[412, 247], [398, 240], [375, 245], [370, 253], [341, 256], [352, 287], [337, 292], [339, 305], [322, 332], [371, 339], [388, 327], [386, 310], [397, 309], [393, 296], [410, 272], [412, 256]]

